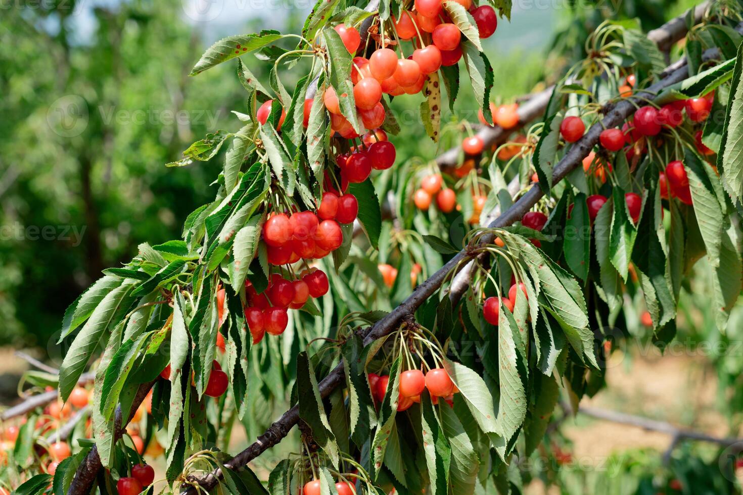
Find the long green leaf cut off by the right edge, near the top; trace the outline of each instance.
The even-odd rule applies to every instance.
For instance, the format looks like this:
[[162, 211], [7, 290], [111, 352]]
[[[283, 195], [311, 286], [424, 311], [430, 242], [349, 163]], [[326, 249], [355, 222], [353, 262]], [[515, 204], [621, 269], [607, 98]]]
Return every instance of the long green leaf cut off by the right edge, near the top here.
[[[733, 203], [743, 203], [743, 44], [738, 48], [730, 96], [727, 99], [717, 168]], [[714, 114], [713, 114], [714, 115]]]

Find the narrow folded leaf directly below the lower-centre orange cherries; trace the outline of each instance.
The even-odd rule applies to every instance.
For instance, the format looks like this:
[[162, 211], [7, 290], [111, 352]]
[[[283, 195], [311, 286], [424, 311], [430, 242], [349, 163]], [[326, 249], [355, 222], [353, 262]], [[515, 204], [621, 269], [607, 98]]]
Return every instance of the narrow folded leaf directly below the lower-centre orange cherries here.
[[[442, 406], [442, 409], [449, 409]], [[432, 495], [447, 495], [452, 450], [444, 437], [428, 393], [421, 394], [421, 434]]]

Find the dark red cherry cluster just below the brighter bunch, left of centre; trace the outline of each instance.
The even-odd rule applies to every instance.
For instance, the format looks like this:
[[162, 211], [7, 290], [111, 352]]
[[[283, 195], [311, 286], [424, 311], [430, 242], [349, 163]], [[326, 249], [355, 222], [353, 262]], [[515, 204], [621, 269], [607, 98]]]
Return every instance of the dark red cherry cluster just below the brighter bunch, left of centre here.
[[250, 281], [245, 281], [249, 304], [245, 306], [245, 321], [253, 335], [253, 344], [262, 341], [266, 333], [281, 335], [289, 323], [289, 308], [299, 309], [308, 298], [319, 298], [328, 292], [328, 275], [321, 269], [307, 269], [301, 275], [301, 278], [289, 281], [274, 273], [261, 294]]

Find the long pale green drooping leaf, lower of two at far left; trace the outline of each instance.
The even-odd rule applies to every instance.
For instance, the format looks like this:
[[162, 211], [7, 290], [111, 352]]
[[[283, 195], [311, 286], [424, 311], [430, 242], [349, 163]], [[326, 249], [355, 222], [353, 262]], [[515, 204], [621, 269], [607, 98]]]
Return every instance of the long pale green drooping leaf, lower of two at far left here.
[[114, 323], [112, 320], [114, 315], [120, 311], [120, 306], [129, 305], [128, 301], [131, 299], [129, 292], [134, 285], [135, 283], [123, 283], [108, 292], [72, 341], [62, 361], [62, 366], [59, 367], [59, 396], [63, 401], [67, 400], [72, 389], [77, 385], [77, 380], [85, 370], [85, 365], [88, 364], [98, 341], [106, 329]]

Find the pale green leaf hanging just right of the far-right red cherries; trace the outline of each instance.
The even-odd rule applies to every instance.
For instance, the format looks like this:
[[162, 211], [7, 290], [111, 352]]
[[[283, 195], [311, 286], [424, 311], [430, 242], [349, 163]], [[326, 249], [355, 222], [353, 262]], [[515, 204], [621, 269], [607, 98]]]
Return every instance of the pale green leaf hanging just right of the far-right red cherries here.
[[[699, 157], [688, 148], [684, 155], [684, 162], [699, 232], [704, 240], [704, 246], [707, 247], [707, 260], [710, 261], [710, 266], [717, 267], [720, 265], [723, 215], [713, 190], [712, 180], [707, 175], [706, 169], [710, 165], [702, 163]], [[717, 180], [717, 177], [714, 180]]]

